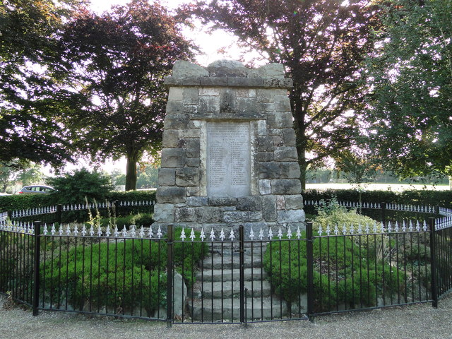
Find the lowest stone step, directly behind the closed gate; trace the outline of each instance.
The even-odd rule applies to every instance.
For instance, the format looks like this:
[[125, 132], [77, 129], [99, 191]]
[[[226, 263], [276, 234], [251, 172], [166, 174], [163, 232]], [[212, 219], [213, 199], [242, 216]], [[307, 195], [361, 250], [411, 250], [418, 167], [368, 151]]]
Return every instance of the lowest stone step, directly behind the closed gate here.
[[[191, 316], [196, 321], [237, 321], [240, 319], [240, 299], [194, 299], [189, 302]], [[287, 303], [277, 297], [246, 298], [246, 319], [278, 319], [287, 314]]]

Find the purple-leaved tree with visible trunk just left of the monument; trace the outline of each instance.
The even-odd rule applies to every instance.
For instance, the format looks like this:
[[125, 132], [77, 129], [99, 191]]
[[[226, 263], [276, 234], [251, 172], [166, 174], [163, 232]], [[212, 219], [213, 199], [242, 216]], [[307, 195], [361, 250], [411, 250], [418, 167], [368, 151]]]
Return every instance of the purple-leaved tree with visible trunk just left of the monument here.
[[174, 61], [191, 57], [189, 42], [162, 6], [133, 0], [97, 16], [82, 11], [61, 35], [83, 107], [68, 117], [76, 147], [93, 160], [126, 156], [126, 190], [136, 189], [137, 162], [160, 148]]

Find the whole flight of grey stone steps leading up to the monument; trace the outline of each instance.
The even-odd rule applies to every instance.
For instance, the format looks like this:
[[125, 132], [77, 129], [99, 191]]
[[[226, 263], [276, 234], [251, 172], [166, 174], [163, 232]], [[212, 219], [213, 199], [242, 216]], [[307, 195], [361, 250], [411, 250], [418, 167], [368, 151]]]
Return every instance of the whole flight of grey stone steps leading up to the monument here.
[[[275, 319], [287, 313], [287, 304], [271, 293], [262, 259], [265, 244], [244, 251], [244, 288], [247, 320]], [[194, 321], [237, 322], [240, 319], [240, 270], [238, 248], [215, 244], [196, 273], [189, 302]]]

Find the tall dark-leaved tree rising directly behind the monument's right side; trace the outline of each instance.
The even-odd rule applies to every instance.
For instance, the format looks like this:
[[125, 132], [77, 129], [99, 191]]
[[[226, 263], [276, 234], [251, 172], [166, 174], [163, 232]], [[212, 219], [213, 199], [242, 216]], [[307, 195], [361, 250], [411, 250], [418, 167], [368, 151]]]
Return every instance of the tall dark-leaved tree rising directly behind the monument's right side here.
[[[300, 177], [350, 148], [365, 90], [361, 63], [373, 48], [376, 7], [350, 0], [198, 1], [180, 11], [239, 37], [263, 59], [285, 66]], [[308, 157], [308, 153], [311, 157]]]

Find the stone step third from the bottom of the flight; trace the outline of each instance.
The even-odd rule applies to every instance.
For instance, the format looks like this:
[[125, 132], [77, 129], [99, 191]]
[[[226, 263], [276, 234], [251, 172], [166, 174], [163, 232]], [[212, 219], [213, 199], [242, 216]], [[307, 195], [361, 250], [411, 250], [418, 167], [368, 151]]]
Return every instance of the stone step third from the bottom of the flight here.
[[[255, 283], [259, 283], [258, 280], [263, 280], [267, 277], [265, 270], [261, 268], [245, 268], [244, 269], [244, 280], [251, 281], [254, 280]], [[210, 269], [196, 272], [197, 281], [231, 281], [240, 279], [240, 270], [235, 269]]]

